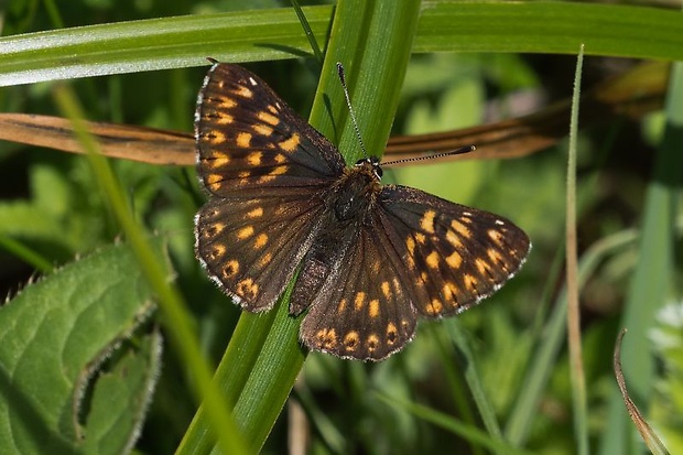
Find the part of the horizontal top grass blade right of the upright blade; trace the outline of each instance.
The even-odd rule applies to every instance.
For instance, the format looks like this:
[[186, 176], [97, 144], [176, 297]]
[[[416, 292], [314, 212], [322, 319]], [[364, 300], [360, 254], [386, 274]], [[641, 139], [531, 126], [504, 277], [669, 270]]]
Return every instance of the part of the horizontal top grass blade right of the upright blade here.
[[414, 52], [576, 54], [583, 43], [586, 55], [683, 57], [677, 11], [543, 1], [434, 1], [424, 8]]

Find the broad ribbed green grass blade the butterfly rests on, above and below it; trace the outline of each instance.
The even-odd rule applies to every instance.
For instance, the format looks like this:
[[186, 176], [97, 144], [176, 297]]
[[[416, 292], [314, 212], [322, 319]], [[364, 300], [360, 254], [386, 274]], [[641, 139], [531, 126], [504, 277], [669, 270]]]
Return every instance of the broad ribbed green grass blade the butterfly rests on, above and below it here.
[[[373, 136], [367, 141], [381, 143], [379, 150], [383, 149], [398, 106], [402, 76], [410, 57], [410, 41], [412, 31], [416, 28], [420, 2], [413, 0], [399, 4], [392, 1], [366, 3], [353, 0], [342, 1], [337, 6], [332, 40], [327, 46], [321, 83], [311, 113], [312, 124], [326, 132], [333, 142], [337, 142], [336, 138], [326, 131], [323, 122], [323, 119], [329, 120], [330, 117], [322, 107], [328, 99], [333, 112], [347, 109], [336, 75], [336, 62], [345, 62], [355, 107], [357, 111], [366, 112], [358, 121], [362, 126], [376, 127], [370, 129]], [[365, 37], [367, 47], [354, 45], [353, 41], [349, 41], [360, 40], [364, 34], [369, 35]], [[383, 41], [373, 39], [373, 34], [383, 36]], [[389, 47], [395, 48], [394, 51], [387, 52], [387, 41], [392, 43]], [[392, 74], [393, 78], [386, 77], [387, 74]], [[377, 106], [383, 106], [384, 110], [377, 109]], [[333, 113], [335, 119], [340, 117]], [[339, 144], [348, 160], [348, 155], [358, 149], [357, 139], [348, 121], [336, 124], [337, 127], [344, 124]], [[353, 138], [353, 147], [344, 145], [344, 140], [347, 138]], [[297, 343], [299, 321], [289, 316], [288, 306], [285, 299], [278, 311], [273, 331], [235, 407], [235, 419], [245, 430], [245, 437], [257, 449], [268, 436], [303, 365], [303, 355]]]

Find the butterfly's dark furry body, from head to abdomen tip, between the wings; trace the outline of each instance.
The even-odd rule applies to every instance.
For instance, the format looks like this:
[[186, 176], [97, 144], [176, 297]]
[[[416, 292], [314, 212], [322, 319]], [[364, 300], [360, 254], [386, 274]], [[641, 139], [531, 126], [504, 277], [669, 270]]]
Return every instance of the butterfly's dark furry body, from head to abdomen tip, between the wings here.
[[344, 261], [344, 252], [349, 251], [349, 246], [357, 241], [359, 227], [370, 223], [381, 191], [380, 175], [377, 159], [360, 160], [356, 165], [346, 167], [324, 196], [325, 215], [302, 261], [290, 300], [292, 314], [308, 307], [323, 285], [329, 285], [334, 280], [335, 271]]

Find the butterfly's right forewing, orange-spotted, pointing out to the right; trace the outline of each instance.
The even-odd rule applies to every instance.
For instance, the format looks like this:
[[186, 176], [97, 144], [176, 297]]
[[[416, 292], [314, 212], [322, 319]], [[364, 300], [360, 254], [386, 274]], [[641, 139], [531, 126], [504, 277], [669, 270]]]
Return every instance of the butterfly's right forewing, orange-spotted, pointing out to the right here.
[[460, 313], [491, 295], [531, 248], [503, 217], [405, 186], [384, 185], [376, 213], [410, 273], [413, 305], [427, 317]]

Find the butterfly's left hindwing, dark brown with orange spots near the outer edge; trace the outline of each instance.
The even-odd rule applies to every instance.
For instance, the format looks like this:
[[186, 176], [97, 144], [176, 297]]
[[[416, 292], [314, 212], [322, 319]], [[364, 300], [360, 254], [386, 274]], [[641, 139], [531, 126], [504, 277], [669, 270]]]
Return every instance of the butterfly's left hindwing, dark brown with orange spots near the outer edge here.
[[196, 216], [197, 257], [245, 310], [271, 308], [311, 246], [323, 206], [300, 197], [214, 198]]

